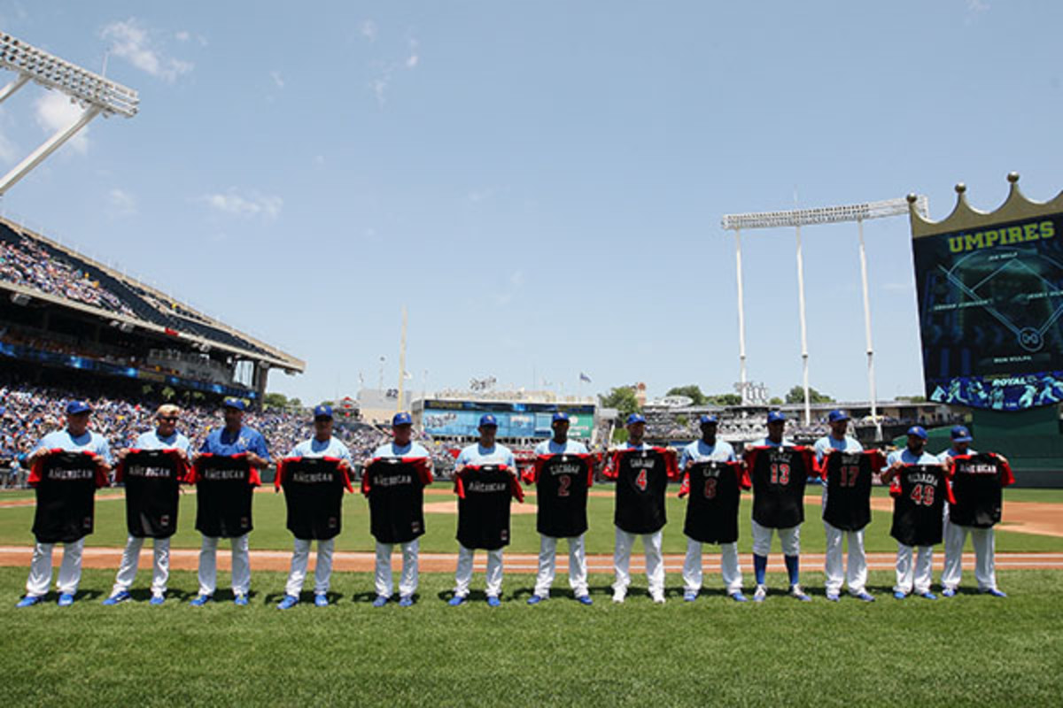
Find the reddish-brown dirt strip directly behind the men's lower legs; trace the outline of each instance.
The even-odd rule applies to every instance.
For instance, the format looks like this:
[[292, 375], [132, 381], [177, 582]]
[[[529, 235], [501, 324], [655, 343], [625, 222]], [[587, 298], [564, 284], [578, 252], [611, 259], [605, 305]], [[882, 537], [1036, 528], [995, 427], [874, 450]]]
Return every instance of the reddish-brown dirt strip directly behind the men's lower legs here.
[[[24, 566], [29, 567], [33, 549], [20, 546], [0, 547], [0, 566]], [[57, 554], [56, 554], [57, 555]], [[934, 553], [934, 567], [941, 570], [945, 554]], [[117, 569], [122, 557], [122, 549], [119, 548], [91, 548], [86, 547], [82, 556], [82, 565], [85, 568]], [[664, 556], [664, 570], [670, 573], [678, 573], [682, 570], [682, 555], [667, 554]], [[963, 554], [963, 565], [973, 567], [975, 556], [973, 553]], [[146, 550], [140, 553], [140, 567], [151, 568], [152, 552]], [[199, 551], [196, 549], [173, 549], [170, 551], [170, 568], [173, 570], [196, 570], [199, 563]], [[289, 551], [251, 551], [251, 567], [254, 570], [288, 570], [291, 563]], [[720, 572], [720, 556], [712, 553], [705, 554], [705, 571], [708, 573]], [[896, 556], [893, 553], [868, 553], [867, 568], [871, 570], [892, 570], [895, 567]], [[372, 572], [374, 554], [366, 552], [337, 551], [333, 554], [333, 569], [341, 572]], [[400, 569], [401, 554], [396, 554], [393, 560], [395, 570]], [[822, 553], [803, 553], [802, 564], [805, 568], [822, 568]], [[534, 573], [538, 568], [538, 556], [530, 553], [507, 553], [504, 559], [505, 569], [514, 573]], [[218, 568], [227, 571], [231, 568], [231, 556], [224, 547], [218, 550]], [[420, 570], [427, 573], [453, 573], [457, 567], [457, 554], [454, 553], [422, 553]], [[487, 554], [477, 553], [473, 563], [474, 570], [483, 572], [487, 567]], [[1000, 570], [1063, 570], [1063, 553], [997, 553], [996, 567]], [[612, 556], [609, 555], [588, 555], [587, 569], [592, 573], [611, 573]], [[782, 556], [773, 554], [770, 557], [767, 569], [772, 572], [783, 572], [786, 566], [782, 564]], [[557, 572], [563, 574], [568, 572], [568, 556], [566, 553], [557, 554]], [[631, 572], [645, 572], [645, 564], [641, 554], [631, 554]]]

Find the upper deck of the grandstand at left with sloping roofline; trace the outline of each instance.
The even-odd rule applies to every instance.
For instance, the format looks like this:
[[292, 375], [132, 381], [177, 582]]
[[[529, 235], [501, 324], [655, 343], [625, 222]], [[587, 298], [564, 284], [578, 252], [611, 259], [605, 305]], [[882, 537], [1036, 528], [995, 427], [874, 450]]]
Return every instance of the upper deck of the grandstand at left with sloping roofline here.
[[170, 295], [0, 218], [0, 358], [33, 384], [168, 388], [260, 407], [269, 373], [305, 364]]

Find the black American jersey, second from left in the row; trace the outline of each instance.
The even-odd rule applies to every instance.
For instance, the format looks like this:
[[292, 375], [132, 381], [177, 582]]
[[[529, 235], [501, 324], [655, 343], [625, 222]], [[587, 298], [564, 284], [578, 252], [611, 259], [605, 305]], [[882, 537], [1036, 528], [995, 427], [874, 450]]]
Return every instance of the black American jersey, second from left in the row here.
[[125, 485], [125, 526], [134, 538], [169, 538], [178, 531], [180, 485], [190, 472], [176, 450], [130, 450], [115, 482]]

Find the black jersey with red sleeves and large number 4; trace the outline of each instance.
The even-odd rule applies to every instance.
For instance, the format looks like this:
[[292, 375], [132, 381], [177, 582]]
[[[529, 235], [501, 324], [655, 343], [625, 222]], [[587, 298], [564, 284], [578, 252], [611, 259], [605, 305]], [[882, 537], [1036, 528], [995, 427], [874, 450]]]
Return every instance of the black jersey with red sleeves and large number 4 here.
[[629, 534], [652, 534], [668, 523], [664, 491], [678, 477], [675, 451], [624, 448], [612, 453], [606, 478], [617, 481], [613, 523]]

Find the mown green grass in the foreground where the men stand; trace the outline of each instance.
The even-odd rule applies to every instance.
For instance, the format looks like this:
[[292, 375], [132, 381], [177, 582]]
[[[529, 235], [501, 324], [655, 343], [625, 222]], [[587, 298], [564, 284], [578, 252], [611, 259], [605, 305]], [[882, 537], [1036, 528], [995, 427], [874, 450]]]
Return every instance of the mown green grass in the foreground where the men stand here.
[[[761, 606], [718, 593], [656, 606], [644, 586], [614, 606], [610, 579], [595, 575], [593, 607], [568, 592], [527, 607], [533, 579], [511, 574], [497, 609], [476, 593], [449, 607], [444, 574], [422, 577], [416, 606], [374, 609], [371, 576], [338, 573], [335, 606], [286, 612], [261, 592], [244, 608], [188, 607], [188, 572], [173, 574], [162, 607], [142, 592], [117, 607], [83, 592], [70, 608], [15, 609], [24, 573], [0, 568], [10, 706], [1056, 706], [1063, 693], [1063, 573], [1052, 571], [1000, 573], [1007, 600]], [[86, 571], [82, 587], [112, 580]], [[254, 587], [283, 582], [256, 573]], [[873, 591], [891, 583], [872, 573]]]

